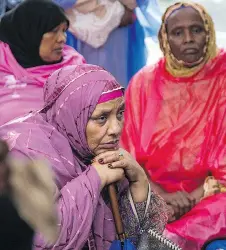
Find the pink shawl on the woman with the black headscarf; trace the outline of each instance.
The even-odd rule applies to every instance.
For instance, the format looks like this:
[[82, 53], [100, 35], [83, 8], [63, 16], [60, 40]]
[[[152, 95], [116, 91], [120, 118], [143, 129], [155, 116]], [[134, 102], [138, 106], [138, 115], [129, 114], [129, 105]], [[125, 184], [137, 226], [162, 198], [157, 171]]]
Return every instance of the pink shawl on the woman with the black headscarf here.
[[22, 68], [9, 46], [0, 42], [0, 125], [43, 106], [43, 85], [48, 76], [66, 65], [85, 63], [73, 48], [64, 48], [61, 63]]

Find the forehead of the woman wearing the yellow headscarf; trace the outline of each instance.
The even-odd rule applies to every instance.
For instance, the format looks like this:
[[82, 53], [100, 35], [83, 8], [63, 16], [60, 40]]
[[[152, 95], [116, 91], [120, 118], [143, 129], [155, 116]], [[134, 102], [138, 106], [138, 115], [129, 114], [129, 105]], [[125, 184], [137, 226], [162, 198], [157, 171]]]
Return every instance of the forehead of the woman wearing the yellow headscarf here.
[[165, 25], [168, 31], [177, 27], [204, 26], [204, 20], [200, 12], [193, 6], [182, 5], [168, 13], [165, 18]]

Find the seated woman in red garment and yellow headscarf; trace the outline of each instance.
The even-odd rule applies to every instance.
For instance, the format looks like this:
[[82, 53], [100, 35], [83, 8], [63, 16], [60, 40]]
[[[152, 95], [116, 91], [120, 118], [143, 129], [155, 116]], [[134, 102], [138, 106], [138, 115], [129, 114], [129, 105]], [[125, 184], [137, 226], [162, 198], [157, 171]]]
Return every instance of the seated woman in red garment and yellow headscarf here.
[[130, 84], [122, 144], [172, 211], [166, 235], [194, 250], [226, 235], [226, 53], [202, 6], [177, 3], [162, 20], [164, 58]]

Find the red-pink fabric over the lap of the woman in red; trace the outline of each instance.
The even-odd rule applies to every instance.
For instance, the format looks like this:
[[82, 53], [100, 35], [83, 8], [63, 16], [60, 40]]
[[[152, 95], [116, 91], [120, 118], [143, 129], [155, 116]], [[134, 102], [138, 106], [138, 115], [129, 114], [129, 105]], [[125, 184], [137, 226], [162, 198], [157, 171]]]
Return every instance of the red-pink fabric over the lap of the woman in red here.
[[226, 235], [226, 193], [203, 199], [179, 220], [168, 224], [167, 231], [200, 244]]

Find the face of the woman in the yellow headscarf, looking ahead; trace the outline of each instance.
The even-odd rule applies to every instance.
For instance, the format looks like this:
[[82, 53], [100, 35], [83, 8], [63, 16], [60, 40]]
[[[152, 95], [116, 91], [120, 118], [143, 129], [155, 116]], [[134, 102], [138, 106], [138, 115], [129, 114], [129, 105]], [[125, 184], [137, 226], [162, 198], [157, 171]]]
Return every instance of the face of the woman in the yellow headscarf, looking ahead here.
[[178, 60], [194, 64], [204, 56], [206, 31], [200, 14], [191, 7], [179, 9], [167, 20], [168, 41]]

